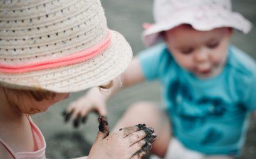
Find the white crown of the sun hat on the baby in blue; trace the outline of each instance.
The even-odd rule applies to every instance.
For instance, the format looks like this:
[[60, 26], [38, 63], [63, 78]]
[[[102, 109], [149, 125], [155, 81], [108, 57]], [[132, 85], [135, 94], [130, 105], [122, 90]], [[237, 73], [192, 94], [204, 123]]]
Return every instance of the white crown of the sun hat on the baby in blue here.
[[221, 9], [231, 11], [230, 0], [155, 0], [153, 17], [155, 22], [166, 21], [172, 14], [189, 9]]

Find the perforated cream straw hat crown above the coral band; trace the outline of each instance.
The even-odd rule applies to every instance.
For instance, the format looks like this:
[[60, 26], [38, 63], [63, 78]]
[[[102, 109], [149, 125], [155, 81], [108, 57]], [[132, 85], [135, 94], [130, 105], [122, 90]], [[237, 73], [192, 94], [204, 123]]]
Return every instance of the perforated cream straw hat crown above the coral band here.
[[28, 64], [83, 51], [108, 33], [100, 0], [0, 2], [0, 63]]

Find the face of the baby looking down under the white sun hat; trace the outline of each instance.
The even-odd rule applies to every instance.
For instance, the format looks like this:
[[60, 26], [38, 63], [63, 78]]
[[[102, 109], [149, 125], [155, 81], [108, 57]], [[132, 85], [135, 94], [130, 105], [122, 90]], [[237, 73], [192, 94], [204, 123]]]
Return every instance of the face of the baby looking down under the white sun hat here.
[[181, 67], [208, 78], [222, 71], [231, 35], [232, 29], [227, 27], [197, 31], [184, 24], [166, 31], [164, 39]]

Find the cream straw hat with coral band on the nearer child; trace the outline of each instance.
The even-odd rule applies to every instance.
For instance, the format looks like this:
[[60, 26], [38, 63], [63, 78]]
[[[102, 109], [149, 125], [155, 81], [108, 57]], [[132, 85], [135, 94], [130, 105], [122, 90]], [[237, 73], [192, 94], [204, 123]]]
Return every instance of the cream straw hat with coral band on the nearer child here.
[[131, 48], [100, 0], [0, 1], [0, 85], [76, 92], [128, 67]]

